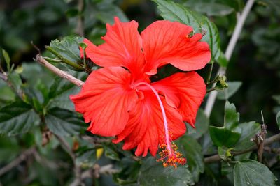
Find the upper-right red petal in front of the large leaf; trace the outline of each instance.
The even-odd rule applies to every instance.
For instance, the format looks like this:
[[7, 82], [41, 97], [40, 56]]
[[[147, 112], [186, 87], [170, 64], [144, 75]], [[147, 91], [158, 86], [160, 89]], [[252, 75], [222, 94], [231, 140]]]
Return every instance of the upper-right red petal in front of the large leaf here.
[[142, 33], [144, 54], [147, 61], [145, 72], [154, 75], [157, 68], [170, 63], [184, 71], [203, 68], [211, 59], [207, 42], [200, 42], [200, 33], [188, 35], [192, 27], [179, 22], [157, 21]]

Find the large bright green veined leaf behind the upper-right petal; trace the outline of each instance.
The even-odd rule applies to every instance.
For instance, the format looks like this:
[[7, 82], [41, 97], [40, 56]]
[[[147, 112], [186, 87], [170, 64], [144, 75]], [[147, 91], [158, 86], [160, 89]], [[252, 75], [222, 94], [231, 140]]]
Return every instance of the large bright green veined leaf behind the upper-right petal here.
[[165, 20], [188, 24], [193, 27], [195, 33], [207, 31], [202, 40], [208, 42], [212, 58], [218, 59], [221, 53], [220, 36], [218, 34], [218, 29], [213, 22], [210, 22], [204, 15], [200, 15], [179, 3], [165, 0], [153, 1], [158, 4], [158, 9], [161, 12], [160, 15], [162, 15]]

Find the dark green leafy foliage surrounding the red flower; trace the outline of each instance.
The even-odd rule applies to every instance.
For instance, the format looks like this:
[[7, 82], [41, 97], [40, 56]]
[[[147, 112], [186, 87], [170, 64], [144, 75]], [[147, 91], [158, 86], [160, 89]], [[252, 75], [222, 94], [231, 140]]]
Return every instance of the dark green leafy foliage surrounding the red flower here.
[[[70, 185], [77, 179], [85, 185], [275, 185], [275, 176], [280, 178], [279, 151], [265, 153], [265, 165], [256, 162], [255, 151], [235, 152], [255, 146], [250, 139], [260, 131], [260, 110], [267, 137], [279, 133], [280, 3], [255, 2], [232, 59], [226, 61], [223, 52], [245, 4], [243, 0], [1, 1], [0, 64], [9, 84], [0, 79], [0, 185]], [[71, 75], [85, 79], [85, 72], [97, 67], [78, 58], [77, 35], [98, 45], [114, 16], [124, 22], [137, 20], [141, 31], [162, 19], [160, 15], [190, 24], [197, 32], [206, 29], [204, 40], [216, 62], [211, 79], [220, 65], [228, 68], [229, 87], [219, 91], [211, 117], [200, 109], [197, 129], [188, 127], [188, 134], [176, 141], [188, 160], [176, 170], [163, 168], [153, 157], [135, 157], [133, 150], [121, 150], [121, 144], [86, 132], [87, 124], [69, 100], [79, 88], [34, 62], [38, 52], [30, 44], [33, 41], [44, 56], [64, 62], [56, 63], [59, 68], [71, 67]], [[48, 51], [45, 45], [50, 45]], [[74, 72], [76, 65], [84, 72]], [[210, 68], [200, 70], [204, 79]], [[167, 66], [159, 74], [172, 72], [174, 68]], [[278, 150], [279, 146], [279, 141], [272, 144]], [[224, 162], [204, 162], [214, 154]], [[9, 167], [11, 162], [17, 164]]]

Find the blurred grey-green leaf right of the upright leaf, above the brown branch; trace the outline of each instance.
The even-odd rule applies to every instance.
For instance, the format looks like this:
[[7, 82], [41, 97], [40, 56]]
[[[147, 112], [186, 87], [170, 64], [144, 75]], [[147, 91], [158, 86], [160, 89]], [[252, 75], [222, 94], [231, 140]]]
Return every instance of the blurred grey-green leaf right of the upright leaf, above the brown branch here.
[[255, 134], [260, 130], [260, 124], [255, 123], [255, 121], [240, 123], [238, 128], [242, 131], [241, 137], [233, 148], [235, 150], [246, 150], [247, 148], [251, 148], [255, 146], [255, 143], [251, 141], [252, 138], [255, 137]]

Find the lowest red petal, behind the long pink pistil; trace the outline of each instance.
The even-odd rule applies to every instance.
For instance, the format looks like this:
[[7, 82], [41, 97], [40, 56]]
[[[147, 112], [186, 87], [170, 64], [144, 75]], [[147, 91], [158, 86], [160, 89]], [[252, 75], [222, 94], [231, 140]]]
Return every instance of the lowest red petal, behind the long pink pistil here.
[[[159, 144], [165, 143], [165, 130], [162, 111], [152, 91], [143, 91], [144, 98], [139, 100], [134, 109], [130, 111], [130, 119], [125, 130], [118, 134], [114, 143], [125, 141], [124, 150], [137, 146], [135, 155], [146, 156], [148, 151], [155, 156]], [[172, 140], [181, 137], [186, 132], [186, 125], [177, 109], [169, 106], [161, 96], [167, 114], [167, 123]]]

